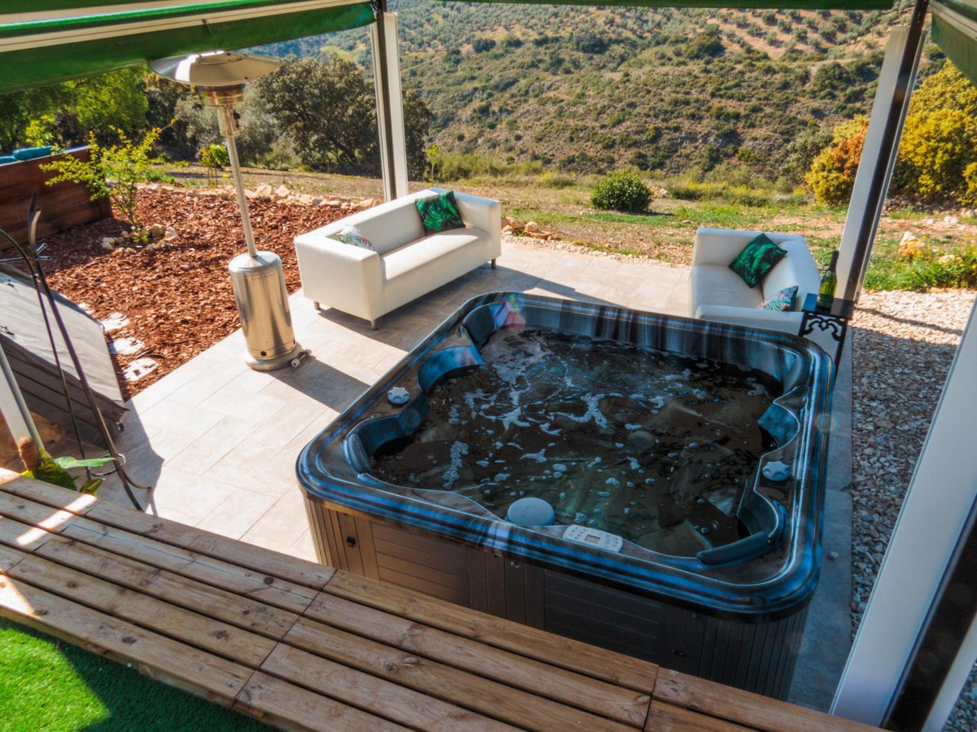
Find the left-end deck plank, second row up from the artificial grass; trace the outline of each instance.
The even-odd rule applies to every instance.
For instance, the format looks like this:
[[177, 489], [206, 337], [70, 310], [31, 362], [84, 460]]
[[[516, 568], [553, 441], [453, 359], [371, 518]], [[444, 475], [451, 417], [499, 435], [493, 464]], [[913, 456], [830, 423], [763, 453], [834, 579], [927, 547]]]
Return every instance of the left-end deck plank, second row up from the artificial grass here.
[[138, 591], [127, 590], [39, 556], [27, 556], [6, 574], [14, 580], [150, 628], [245, 666], [257, 668], [276, 641], [208, 618]]

